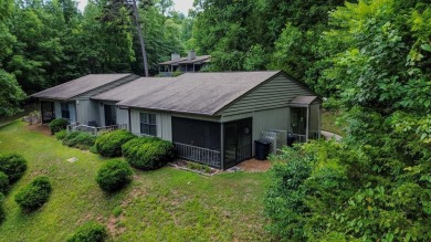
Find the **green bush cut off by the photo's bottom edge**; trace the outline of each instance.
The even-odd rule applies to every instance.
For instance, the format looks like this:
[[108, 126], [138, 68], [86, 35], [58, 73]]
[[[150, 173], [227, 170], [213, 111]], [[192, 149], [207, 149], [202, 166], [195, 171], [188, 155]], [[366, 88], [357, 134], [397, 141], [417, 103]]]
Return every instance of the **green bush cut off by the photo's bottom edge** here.
[[106, 228], [96, 222], [86, 222], [76, 230], [67, 242], [103, 242], [107, 238]]

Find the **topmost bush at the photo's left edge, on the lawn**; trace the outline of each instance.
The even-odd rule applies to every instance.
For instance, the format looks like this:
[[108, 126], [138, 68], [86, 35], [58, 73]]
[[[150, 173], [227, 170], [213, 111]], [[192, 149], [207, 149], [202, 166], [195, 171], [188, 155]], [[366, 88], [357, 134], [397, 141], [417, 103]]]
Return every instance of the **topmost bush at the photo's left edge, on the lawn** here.
[[20, 179], [27, 170], [27, 160], [19, 154], [1, 154], [0, 155], [0, 171], [4, 172], [9, 178], [9, 183]]

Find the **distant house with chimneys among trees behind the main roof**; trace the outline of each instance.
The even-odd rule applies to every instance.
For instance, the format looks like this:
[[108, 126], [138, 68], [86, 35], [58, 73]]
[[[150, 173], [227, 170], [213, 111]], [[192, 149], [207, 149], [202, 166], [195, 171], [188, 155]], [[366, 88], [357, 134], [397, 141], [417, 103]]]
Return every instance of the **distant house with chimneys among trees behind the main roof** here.
[[171, 76], [174, 72], [199, 72], [204, 65], [211, 61], [211, 55], [196, 55], [195, 51], [190, 51], [187, 57], [181, 57], [179, 54], [171, 54], [170, 61], [159, 63], [159, 75]]

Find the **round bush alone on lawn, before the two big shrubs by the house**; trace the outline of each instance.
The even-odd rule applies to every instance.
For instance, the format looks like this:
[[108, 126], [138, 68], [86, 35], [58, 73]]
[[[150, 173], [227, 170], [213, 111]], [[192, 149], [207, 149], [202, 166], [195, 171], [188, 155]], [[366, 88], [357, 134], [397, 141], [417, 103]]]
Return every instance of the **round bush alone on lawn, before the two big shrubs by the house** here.
[[127, 162], [115, 159], [101, 167], [96, 181], [104, 191], [118, 191], [132, 181], [132, 169]]

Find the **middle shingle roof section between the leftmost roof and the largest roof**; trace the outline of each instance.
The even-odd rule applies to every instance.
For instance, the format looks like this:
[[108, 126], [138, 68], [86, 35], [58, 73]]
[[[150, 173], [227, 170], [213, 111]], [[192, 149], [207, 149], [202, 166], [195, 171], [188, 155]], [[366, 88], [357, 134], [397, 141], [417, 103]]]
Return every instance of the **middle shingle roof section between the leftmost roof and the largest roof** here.
[[174, 77], [140, 77], [127, 84], [106, 91], [92, 97], [92, 99], [120, 102], [146, 93], [159, 92], [167, 85], [177, 81]]

